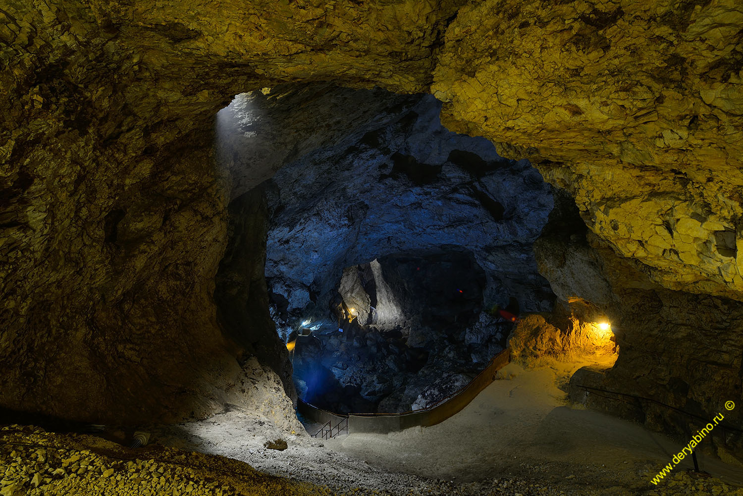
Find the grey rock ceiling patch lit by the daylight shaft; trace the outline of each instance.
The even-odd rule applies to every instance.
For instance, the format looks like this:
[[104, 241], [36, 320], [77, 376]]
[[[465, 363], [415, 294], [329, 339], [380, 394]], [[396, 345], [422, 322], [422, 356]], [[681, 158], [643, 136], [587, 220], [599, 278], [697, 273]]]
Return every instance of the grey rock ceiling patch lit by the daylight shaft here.
[[218, 162], [236, 198], [318, 149], [343, 146], [389, 123], [417, 99], [380, 88], [283, 84], [242, 93], [217, 113]]

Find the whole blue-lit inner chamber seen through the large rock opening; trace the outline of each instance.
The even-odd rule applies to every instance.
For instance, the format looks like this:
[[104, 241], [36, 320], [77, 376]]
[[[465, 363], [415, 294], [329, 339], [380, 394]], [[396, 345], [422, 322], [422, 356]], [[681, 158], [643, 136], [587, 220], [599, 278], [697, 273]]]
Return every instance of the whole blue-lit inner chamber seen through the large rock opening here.
[[[493, 306], [551, 309], [532, 245], [553, 199], [528, 161], [444, 129], [430, 95], [337, 89], [307, 101], [271, 91], [247, 99], [270, 107], [276, 139], [296, 132], [293, 145], [272, 151], [250, 106], [236, 120], [268, 167], [284, 159], [259, 190], [270, 315], [285, 343], [300, 335], [300, 398], [337, 412], [426, 408], [504, 347], [511, 324]], [[336, 117], [313, 127], [307, 106]], [[308, 151], [302, 133], [325, 145]]]

